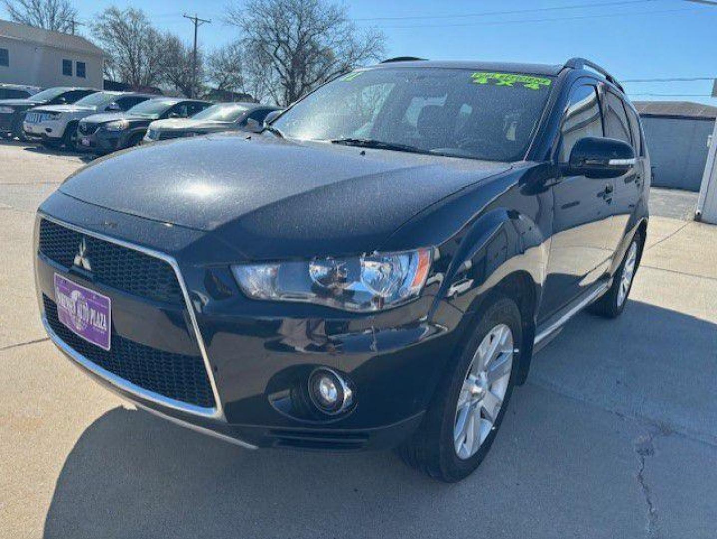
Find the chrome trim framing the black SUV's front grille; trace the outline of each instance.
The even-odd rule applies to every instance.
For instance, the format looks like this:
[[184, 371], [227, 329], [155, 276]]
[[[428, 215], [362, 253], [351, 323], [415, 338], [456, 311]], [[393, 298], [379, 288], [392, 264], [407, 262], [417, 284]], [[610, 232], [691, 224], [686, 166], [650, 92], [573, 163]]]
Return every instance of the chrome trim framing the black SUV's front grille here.
[[[219, 399], [217, 381], [214, 380], [214, 375], [212, 373], [212, 365], [211, 363], [209, 363], [209, 356], [206, 353], [204, 338], [202, 338], [201, 331], [199, 331], [199, 323], [196, 320], [196, 313], [194, 313], [194, 307], [192, 307], [191, 305], [189, 290], [186, 287], [184, 277], [182, 277], [181, 275], [181, 271], [179, 270], [179, 264], [177, 264], [176, 259], [174, 259], [174, 257], [169, 256], [168, 254], [155, 251], [154, 249], [149, 249], [148, 247], [142, 247], [141, 245], [125, 242], [122, 239], [113, 238], [100, 232], [92, 232], [91, 230], [84, 229], [81, 226], [76, 226], [74, 224], [61, 221], [60, 219], [56, 219], [52, 216], [49, 216], [42, 211], [37, 212], [37, 226], [39, 226], [40, 219], [47, 219], [47, 221], [52, 221], [55, 224], [65, 226], [66, 228], [74, 230], [75, 232], [80, 232], [80, 234], [86, 234], [87, 236], [92, 236], [105, 242], [113, 243], [115, 245], [119, 245], [120, 247], [132, 249], [133, 251], [147, 254], [150, 257], [161, 259], [167, 264], [169, 264], [172, 269], [174, 269], [174, 274], [176, 275], [177, 281], [179, 282], [179, 287], [181, 288], [182, 296], [184, 297], [184, 304], [186, 305], [186, 310], [189, 312], [189, 319], [191, 320], [191, 326], [192, 330], [194, 331], [196, 343], [199, 346], [199, 353], [201, 353], [201, 358], [204, 361], [206, 376], [209, 377], [209, 385], [212, 386], [212, 394], [214, 395], [214, 403], [216, 404], [216, 406], [212, 408], [204, 408], [203, 406], [194, 406], [193, 404], [189, 404], [184, 401], [176, 401], [175, 399], [170, 399], [167, 396], [163, 396], [159, 393], [154, 393], [153, 391], [149, 391], [140, 386], [136, 386], [134, 383], [126, 380], [125, 378], [120, 378], [120, 376], [116, 376], [115, 374], [110, 373], [110, 371], [107, 371], [104, 368], [98, 366], [96, 363], [93, 363], [89, 359], [85, 358], [85, 356], [82, 356], [82, 354], [77, 353], [75, 352], [75, 350], [70, 348], [70, 346], [67, 345], [65, 341], [60, 339], [60, 337], [58, 337], [57, 334], [52, 331], [52, 328], [50, 328], [49, 324], [47, 323], [47, 318], [42, 315], [42, 324], [44, 325], [45, 330], [47, 330], [47, 334], [52, 339], [52, 342], [57, 345], [60, 350], [67, 354], [67, 356], [70, 356], [70, 358], [72, 358], [74, 361], [77, 361], [77, 363], [80, 363], [80, 365], [87, 368], [88, 371], [95, 373], [97, 376], [100, 376], [100, 378], [105, 379], [113, 386], [116, 386], [123, 391], [127, 391], [128, 393], [141, 397], [142, 399], [147, 399], [148, 401], [154, 402], [156, 404], [161, 404], [162, 406], [167, 406], [171, 409], [184, 411], [188, 414], [218, 419], [219, 421], [226, 421], [226, 418], [224, 417], [224, 409], [222, 408], [222, 401]], [[38, 252], [35, 253], [35, 256], [39, 254], [39, 243], [37, 243], [37, 249]]]

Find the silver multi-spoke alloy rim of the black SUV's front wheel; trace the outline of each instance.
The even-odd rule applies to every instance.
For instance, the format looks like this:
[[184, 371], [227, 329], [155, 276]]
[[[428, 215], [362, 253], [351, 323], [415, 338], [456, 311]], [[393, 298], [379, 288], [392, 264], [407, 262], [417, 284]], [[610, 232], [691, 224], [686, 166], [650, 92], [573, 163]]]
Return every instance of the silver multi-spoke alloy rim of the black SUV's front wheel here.
[[493, 430], [513, 371], [513, 332], [499, 324], [475, 350], [458, 395], [453, 444], [460, 459], [470, 459]]

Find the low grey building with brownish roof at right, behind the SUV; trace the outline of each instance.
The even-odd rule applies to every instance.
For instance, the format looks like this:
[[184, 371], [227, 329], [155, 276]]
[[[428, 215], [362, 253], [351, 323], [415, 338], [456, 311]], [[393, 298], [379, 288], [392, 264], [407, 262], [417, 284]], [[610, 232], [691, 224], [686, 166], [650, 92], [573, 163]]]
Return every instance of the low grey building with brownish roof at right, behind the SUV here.
[[689, 101], [634, 101], [655, 169], [652, 185], [699, 191], [717, 107]]

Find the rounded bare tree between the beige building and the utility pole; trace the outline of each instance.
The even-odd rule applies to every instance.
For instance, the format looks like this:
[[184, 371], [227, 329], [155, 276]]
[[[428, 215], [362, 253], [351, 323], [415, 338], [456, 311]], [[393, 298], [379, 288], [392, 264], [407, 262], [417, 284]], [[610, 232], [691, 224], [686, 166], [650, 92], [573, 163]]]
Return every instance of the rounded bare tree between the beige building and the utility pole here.
[[108, 77], [135, 88], [162, 80], [164, 39], [141, 9], [105, 9], [92, 24], [92, 34], [109, 56]]

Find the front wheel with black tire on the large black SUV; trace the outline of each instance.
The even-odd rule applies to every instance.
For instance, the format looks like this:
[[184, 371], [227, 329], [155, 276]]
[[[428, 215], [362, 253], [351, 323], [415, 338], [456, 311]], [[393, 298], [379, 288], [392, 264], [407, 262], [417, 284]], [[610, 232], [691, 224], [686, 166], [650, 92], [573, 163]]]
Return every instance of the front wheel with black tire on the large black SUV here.
[[[473, 334], [465, 345], [457, 350], [452, 364], [440, 381], [421, 426], [411, 438], [397, 448], [399, 456], [409, 466], [445, 482], [464, 479], [483, 462], [495, 435], [498, 434], [518, 378], [521, 352], [514, 353], [513, 350], [522, 343], [521, 313], [516, 303], [508, 297], [501, 295], [486, 301], [479, 313], [479, 321]], [[500, 333], [498, 328], [501, 328], [503, 333]], [[505, 330], [509, 331], [511, 341], [503, 338]], [[505, 343], [501, 344], [503, 340]], [[490, 366], [493, 366], [492, 372], [497, 376], [496, 367], [503, 365], [502, 375], [499, 378], [500, 387], [495, 383], [491, 386], [488, 382], [488, 386], [484, 385], [480, 388], [478, 386], [486, 383], [487, 379], [483, 378], [483, 374], [475, 376], [474, 368], [481, 363], [483, 356], [481, 350], [490, 350], [490, 345], [493, 343], [498, 343], [500, 354], [493, 356], [493, 361], [488, 360], [488, 371], [491, 370]], [[510, 364], [504, 363], [507, 361], [508, 353], [505, 350], [508, 348]], [[501, 358], [503, 361], [500, 361]], [[476, 361], [478, 364], [475, 363]], [[508, 372], [505, 372], [506, 370]], [[478, 368], [478, 371], [481, 371], [481, 368]], [[499, 399], [502, 402], [497, 413], [495, 413], [496, 393], [503, 393], [503, 398]], [[464, 404], [461, 406], [462, 403]], [[490, 414], [488, 407], [492, 409]], [[471, 417], [473, 417], [473, 429], [470, 429]], [[493, 419], [492, 424], [490, 419]], [[464, 428], [461, 429], [461, 426]], [[470, 449], [469, 431], [476, 435], [473, 439], [478, 443]], [[464, 434], [465, 442], [462, 442]]]

